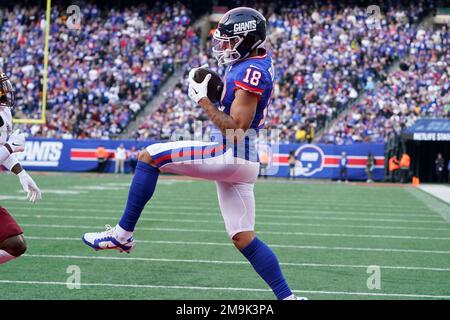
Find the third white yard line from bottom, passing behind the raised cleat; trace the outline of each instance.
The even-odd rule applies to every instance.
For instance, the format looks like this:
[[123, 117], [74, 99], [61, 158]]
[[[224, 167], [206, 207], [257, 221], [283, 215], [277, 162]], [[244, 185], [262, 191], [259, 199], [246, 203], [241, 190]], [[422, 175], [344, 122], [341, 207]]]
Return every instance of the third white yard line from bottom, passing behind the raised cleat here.
[[[32, 240], [55, 240], [55, 241], [81, 241], [80, 238], [69, 237], [40, 237], [27, 236]], [[173, 245], [198, 245], [198, 246], [225, 246], [229, 247], [228, 242], [201, 242], [201, 241], [165, 241], [165, 240], [135, 240], [137, 243], [149, 244], [173, 244]], [[443, 250], [419, 250], [419, 249], [387, 249], [387, 248], [353, 248], [353, 247], [326, 247], [326, 246], [299, 246], [285, 244], [270, 244], [273, 248], [285, 249], [311, 249], [311, 250], [341, 250], [341, 251], [374, 251], [374, 252], [402, 252], [402, 253], [431, 253], [431, 254], [450, 254], [450, 251]]]

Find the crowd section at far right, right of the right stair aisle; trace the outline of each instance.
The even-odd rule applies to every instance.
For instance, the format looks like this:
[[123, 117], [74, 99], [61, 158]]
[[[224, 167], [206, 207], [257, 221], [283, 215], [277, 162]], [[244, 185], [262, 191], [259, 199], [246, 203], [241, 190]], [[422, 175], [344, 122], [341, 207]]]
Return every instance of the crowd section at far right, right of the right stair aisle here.
[[363, 99], [327, 132], [323, 142], [383, 142], [419, 117], [450, 118], [449, 39], [448, 27], [419, 30], [399, 68], [376, 90], [367, 88]]

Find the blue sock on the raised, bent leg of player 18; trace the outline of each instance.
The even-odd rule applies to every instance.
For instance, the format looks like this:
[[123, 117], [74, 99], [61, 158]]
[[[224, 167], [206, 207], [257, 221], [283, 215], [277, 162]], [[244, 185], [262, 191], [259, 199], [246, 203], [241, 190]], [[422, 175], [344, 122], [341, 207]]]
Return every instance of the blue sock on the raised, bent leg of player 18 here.
[[136, 171], [128, 192], [127, 206], [120, 219], [119, 226], [127, 231], [134, 231], [142, 210], [155, 191], [159, 170], [151, 165], [138, 161]]

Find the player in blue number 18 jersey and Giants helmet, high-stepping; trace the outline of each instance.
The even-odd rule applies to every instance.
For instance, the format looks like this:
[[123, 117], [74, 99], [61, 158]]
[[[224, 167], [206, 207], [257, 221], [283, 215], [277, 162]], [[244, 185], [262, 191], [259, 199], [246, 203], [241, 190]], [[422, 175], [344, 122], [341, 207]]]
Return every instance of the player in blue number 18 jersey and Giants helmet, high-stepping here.
[[104, 232], [83, 235], [87, 245], [95, 250], [132, 250], [135, 225], [153, 195], [160, 172], [214, 180], [225, 227], [236, 248], [277, 299], [299, 299], [289, 288], [274, 252], [254, 232], [253, 186], [259, 172], [255, 133], [264, 125], [274, 79], [265, 40], [266, 19], [260, 12], [240, 7], [222, 17], [213, 36], [213, 54], [219, 65], [227, 65], [219, 108], [208, 98], [211, 74], [198, 83], [194, 80], [198, 68], [194, 68], [188, 79], [189, 97], [218, 129], [213, 142], [175, 141], [148, 146], [139, 155], [121, 220]]

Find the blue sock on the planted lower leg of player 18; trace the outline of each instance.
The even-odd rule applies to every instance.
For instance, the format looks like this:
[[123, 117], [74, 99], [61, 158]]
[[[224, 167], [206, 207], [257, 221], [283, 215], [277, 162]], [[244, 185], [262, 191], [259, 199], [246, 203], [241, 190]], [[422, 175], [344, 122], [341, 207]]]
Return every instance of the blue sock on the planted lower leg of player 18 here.
[[241, 252], [272, 288], [278, 300], [283, 300], [292, 294], [281, 272], [277, 256], [264, 242], [255, 237]]

